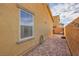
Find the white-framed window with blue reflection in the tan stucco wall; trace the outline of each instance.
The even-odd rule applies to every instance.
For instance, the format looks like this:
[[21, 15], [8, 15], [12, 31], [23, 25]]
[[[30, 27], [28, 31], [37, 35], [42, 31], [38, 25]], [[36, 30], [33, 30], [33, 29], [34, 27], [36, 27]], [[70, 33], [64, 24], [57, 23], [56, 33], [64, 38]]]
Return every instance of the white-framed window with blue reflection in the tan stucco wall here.
[[20, 38], [29, 39], [33, 37], [34, 22], [32, 13], [20, 9]]

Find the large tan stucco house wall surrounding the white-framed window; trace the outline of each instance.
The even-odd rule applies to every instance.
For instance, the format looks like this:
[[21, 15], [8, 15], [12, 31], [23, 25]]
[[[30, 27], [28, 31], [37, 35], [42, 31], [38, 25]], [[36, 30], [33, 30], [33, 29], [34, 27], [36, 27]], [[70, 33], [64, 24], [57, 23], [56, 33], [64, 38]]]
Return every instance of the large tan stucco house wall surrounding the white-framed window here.
[[[19, 6], [19, 7], [18, 7]], [[34, 38], [17, 44], [19, 8], [34, 14]], [[22, 55], [39, 43], [40, 35], [52, 35], [52, 19], [46, 4], [0, 4], [0, 55]], [[49, 36], [50, 36], [49, 35]]]

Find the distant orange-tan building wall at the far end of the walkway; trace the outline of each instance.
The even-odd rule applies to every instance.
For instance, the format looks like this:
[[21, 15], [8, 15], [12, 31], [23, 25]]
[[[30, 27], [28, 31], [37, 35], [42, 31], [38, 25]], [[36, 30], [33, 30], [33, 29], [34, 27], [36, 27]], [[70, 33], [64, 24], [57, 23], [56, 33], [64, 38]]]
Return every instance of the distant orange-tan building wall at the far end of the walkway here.
[[54, 34], [60, 34], [63, 32], [63, 28], [60, 25], [60, 17], [59, 16], [53, 16], [53, 33]]

